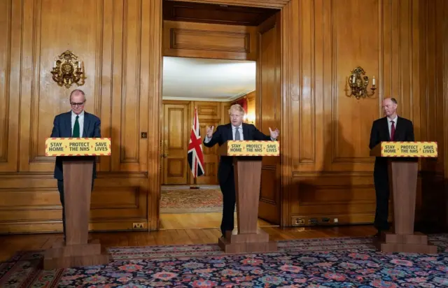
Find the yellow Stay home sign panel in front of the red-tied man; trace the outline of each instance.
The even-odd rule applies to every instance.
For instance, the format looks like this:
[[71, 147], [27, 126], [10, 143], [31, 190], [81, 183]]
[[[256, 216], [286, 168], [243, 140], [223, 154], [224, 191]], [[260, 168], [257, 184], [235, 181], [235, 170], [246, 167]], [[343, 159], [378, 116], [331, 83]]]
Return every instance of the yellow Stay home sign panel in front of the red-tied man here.
[[437, 143], [381, 142], [381, 157], [437, 157]]

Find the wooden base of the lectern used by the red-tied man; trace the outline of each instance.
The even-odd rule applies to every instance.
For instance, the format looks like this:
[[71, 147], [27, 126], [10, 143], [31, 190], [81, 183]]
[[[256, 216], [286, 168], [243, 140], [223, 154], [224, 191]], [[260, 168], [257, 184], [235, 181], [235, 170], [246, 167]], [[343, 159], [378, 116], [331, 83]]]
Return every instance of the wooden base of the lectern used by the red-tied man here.
[[428, 236], [416, 232], [411, 235], [400, 235], [394, 233], [381, 233], [381, 238], [374, 241], [377, 250], [381, 252], [404, 252], [437, 254], [437, 246], [428, 242]]

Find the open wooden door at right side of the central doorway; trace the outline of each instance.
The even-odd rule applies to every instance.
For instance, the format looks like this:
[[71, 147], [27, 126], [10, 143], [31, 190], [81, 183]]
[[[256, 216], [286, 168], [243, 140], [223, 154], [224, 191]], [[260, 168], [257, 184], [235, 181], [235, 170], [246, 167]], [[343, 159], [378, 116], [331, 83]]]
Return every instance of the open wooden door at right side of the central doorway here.
[[[256, 124], [269, 135], [281, 127], [281, 27], [280, 13], [258, 26], [258, 60], [256, 85]], [[279, 140], [281, 140], [279, 138]], [[281, 147], [281, 146], [280, 146]], [[258, 217], [280, 224], [281, 219], [280, 157], [264, 157], [261, 171]]]

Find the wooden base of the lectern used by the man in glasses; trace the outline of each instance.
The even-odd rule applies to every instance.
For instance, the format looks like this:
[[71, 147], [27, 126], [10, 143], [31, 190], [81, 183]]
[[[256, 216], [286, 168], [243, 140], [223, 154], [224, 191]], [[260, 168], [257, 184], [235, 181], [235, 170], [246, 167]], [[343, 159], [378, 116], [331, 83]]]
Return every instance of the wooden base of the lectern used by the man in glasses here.
[[45, 270], [58, 268], [73, 268], [109, 264], [109, 254], [101, 247], [99, 240], [91, 240], [87, 244], [65, 245], [55, 243], [45, 251], [43, 268]]

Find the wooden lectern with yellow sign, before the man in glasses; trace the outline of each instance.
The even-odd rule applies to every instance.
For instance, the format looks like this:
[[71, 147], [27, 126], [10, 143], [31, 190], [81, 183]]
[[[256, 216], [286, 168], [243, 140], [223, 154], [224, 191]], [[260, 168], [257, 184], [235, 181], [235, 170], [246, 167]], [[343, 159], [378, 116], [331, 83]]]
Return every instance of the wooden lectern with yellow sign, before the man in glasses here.
[[66, 240], [45, 251], [43, 268], [72, 268], [109, 263], [99, 240], [89, 240], [90, 192], [95, 156], [110, 155], [109, 138], [48, 138], [46, 155], [62, 156]]

